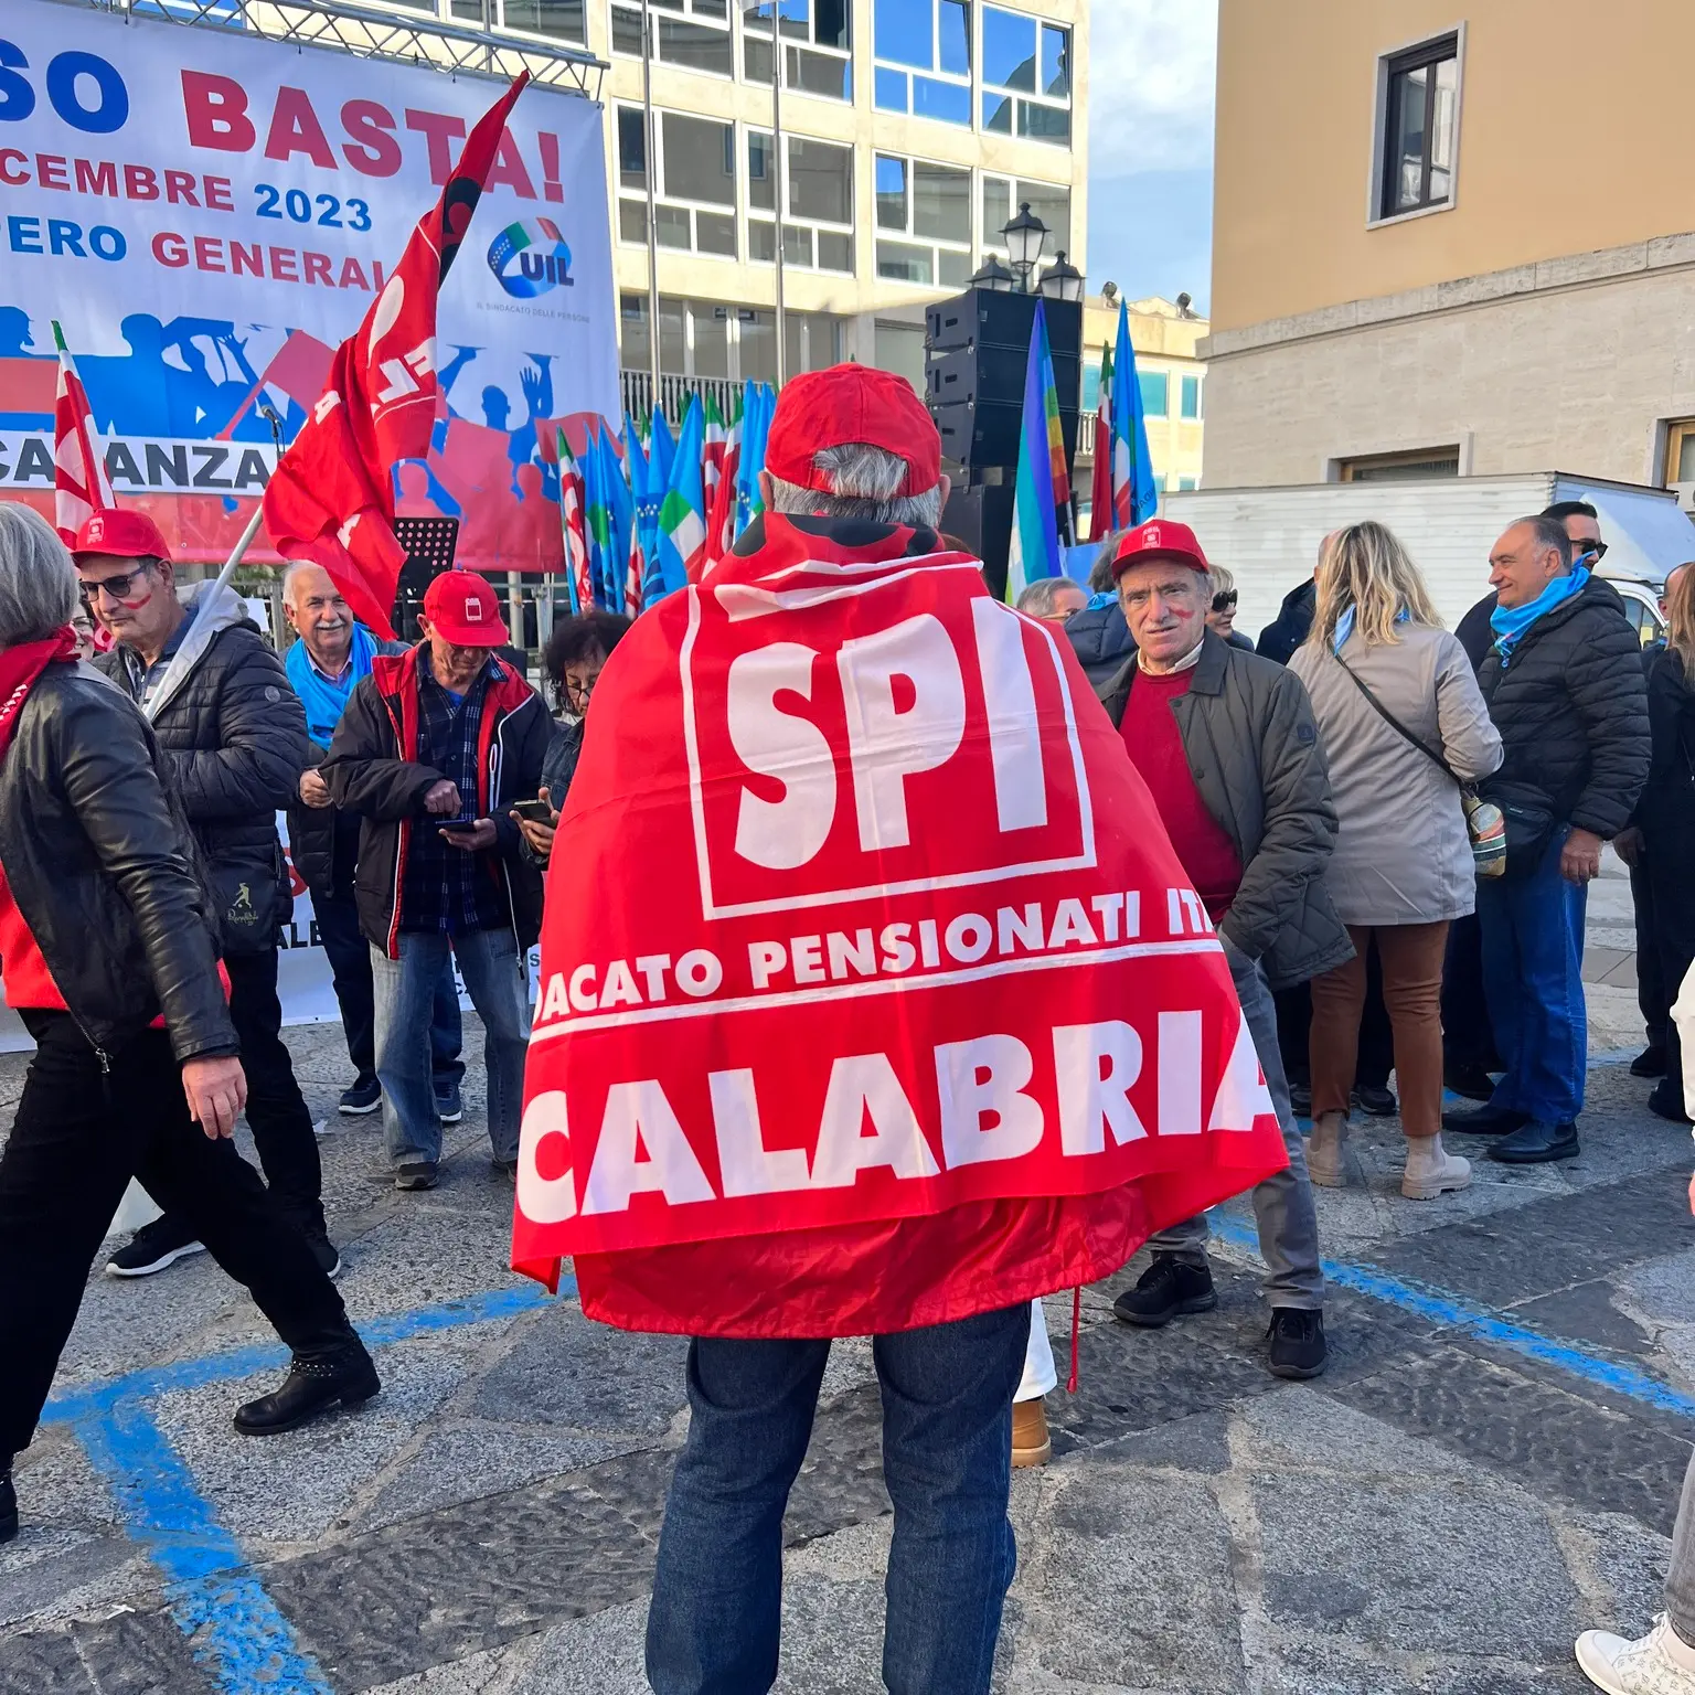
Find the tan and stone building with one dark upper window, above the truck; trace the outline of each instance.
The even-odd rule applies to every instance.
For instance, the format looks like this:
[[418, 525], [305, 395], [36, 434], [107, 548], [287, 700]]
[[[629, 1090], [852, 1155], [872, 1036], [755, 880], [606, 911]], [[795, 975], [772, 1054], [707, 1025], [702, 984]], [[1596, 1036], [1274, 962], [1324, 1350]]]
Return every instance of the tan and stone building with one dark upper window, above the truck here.
[[1207, 483], [1695, 495], [1695, 8], [1220, 0]]

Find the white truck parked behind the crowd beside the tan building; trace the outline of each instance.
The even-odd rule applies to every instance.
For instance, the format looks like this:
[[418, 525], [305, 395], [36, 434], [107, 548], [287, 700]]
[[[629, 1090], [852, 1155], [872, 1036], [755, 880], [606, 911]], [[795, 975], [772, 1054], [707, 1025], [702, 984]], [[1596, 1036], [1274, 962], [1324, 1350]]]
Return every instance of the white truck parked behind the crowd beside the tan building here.
[[1324, 537], [1363, 519], [1387, 524], [1402, 539], [1442, 622], [1454, 629], [1490, 592], [1488, 553], [1502, 531], [1556, 500], [1587, 500], [1600, 514], [1607, 556], [1598, 575], [1624, 597], [1642, 642], [1656, 641], [1666, 573], [1695, 561], [1695, 524], [1670, 488], [1526, 471], [1297, 488], [1198, 488], [1168, 493], [1159, 510], [1188, 524], [1207, 558], [1236, 575], [1241, 597], [1236, 627], [1254, 639], [1276, 617], [1283, 597], [1312, 575]]

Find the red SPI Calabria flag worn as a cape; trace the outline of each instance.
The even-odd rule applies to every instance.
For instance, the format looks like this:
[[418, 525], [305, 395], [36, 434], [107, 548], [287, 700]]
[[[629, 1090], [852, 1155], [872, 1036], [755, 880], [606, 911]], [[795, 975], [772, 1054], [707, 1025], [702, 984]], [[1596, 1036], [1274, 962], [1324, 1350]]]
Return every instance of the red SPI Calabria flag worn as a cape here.
[[864, 1334], [1109, 1275], [1280, 1170], [1219, 939], [1070, 644], [927, 532], [763, 525], [595, 690], [514, 1268], [575, 1256], [634, 1329]]

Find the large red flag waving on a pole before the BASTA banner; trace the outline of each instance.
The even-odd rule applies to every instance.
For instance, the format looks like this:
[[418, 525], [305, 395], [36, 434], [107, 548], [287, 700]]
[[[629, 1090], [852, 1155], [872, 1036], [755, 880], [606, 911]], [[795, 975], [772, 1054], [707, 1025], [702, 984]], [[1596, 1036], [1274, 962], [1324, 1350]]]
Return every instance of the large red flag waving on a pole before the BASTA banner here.
[[405, 554], [395, 541], [392, 468], [429, 453], [439, 386], [436, 303], [529, 73], [478, 119], [364, 322], [337, 349], [312, 417], [264, 490], [264, 525], [285, 559], [329, 571], [353, 615], [392, 636]]

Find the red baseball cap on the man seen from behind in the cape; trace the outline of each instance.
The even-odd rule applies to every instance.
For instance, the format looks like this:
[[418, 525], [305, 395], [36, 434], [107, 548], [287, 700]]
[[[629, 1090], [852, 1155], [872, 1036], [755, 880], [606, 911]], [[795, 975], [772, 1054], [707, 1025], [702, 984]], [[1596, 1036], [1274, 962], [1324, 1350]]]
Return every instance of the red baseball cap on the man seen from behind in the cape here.
[[870, 364], [832, 364], [783, 383], [764, 442], [764, 468], [785, 483], [831, 493], [812, 463], [825, 447], [864, 442], [907, 461], [900, 495], [922, 495], [942, 473], [942, 439], [903, 376]]

